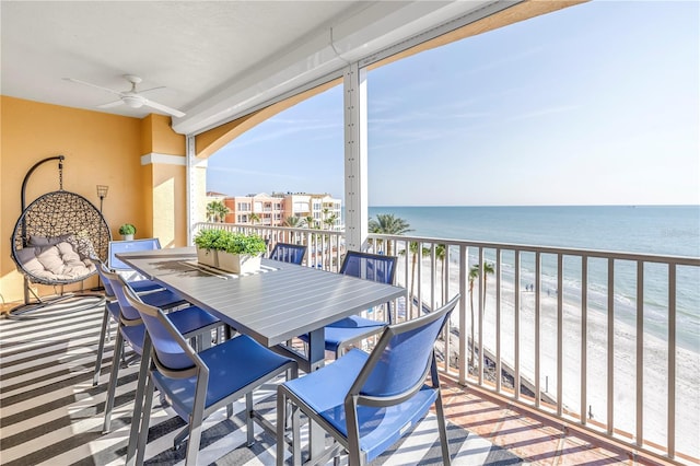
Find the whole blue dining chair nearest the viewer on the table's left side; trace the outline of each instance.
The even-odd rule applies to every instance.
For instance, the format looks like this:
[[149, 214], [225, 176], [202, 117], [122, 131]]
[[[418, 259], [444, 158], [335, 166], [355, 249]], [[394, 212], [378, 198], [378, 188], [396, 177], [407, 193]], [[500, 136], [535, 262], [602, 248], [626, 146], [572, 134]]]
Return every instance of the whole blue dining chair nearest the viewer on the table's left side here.
[[[255, 442], [254, 418], [275, 433], [269, 421], [254, 412], [253, 392], [288, 371], [296, 378], [296, 361], [272, 352], [246, 335], [238, 335], [198, 353], [173, 322], [177, 313], [165, 315], [162, 310], [140, 302], [130, 290], [126, 290], [126, 299], [143, 318], [148, 333], [145, 350], [151, 356], [142, 360], [141, 368], [148, 363], [148, 370], [143, 377], [139, 377], [127, 465], [143, 463], [155, 387], [188, 424], [186, 465], [197, 464], [203, 419], [224, 406], [228, 406], [231, 417], [231, 404], [243, 396], [246, 399], [248, 445]], [[142, 381], [148, 382], [143, 384]], [[175, 442], [177, 447], [178, 440]]]

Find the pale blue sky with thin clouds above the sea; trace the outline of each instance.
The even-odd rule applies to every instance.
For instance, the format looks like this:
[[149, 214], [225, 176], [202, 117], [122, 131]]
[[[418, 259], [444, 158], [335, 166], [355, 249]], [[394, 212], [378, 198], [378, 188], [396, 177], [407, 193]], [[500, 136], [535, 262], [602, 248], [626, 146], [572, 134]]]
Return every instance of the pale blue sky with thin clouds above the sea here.
[[[368, 74], [370, 205], [700, 203], [699, 88], [697, 1], [593, 1], [396, 61]], [[336, 88], [212, 155], [207, 189], [343, 197], [342, 150]]]

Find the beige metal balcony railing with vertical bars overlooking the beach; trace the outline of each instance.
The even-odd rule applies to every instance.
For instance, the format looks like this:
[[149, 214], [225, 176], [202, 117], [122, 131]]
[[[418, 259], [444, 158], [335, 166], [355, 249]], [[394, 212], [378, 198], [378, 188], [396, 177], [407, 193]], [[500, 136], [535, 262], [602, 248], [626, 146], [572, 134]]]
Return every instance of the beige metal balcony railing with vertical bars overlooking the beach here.
[[[331, 271], [345, 253], [342, 232], [202, 225], [307, 244], [306, 265]], [[460, 293], [439, 351], [462, 384], [699, 462], [700, 258], [376, 234], [368, 249], [399, 257], [396, 318]]]

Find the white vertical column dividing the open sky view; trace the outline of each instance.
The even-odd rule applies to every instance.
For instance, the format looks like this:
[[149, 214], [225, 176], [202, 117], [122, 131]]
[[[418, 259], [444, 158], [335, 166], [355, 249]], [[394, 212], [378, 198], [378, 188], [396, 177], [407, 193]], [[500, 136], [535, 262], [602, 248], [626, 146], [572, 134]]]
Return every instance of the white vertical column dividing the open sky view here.
[[368, 238], [366, 71], [357, 62], [343, 77], [346, 246], [362, 251]]

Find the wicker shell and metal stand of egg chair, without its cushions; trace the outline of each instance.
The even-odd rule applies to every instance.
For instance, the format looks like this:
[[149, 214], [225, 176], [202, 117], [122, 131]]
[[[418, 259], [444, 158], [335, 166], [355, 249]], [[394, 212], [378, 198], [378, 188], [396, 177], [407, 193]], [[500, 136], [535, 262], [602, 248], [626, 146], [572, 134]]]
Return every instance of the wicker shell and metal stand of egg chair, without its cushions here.
[[[97, 272], [92, 263], [88, 266], [89, 271], [85, 273], [51, 277], [46, 273], [38, 276], [36, 272], [32, 272], [20, 257], [22, 249], [37, 247], [32, 244], [32, 237], [47, 238], [49, 244], [46, 246], [54, 246], [57, 243], [51, 244], [51, 238], [59, 241], [57, 238], [72, 235], [72, 241], [81, 241], [84, 245], [89, 245], [90, 256], [94, 255], [103, 261], [107, 258], [107, 249], [112, 240], [109, 225], [107, 225], [102, 212], [86, 198], [63, 189], [65, 159], [63, 155], [44, 159], [34, 164], [24, 176], [21, 194], [22, 213], [10, 238], [12, 260], [24, 277], [24, 303], [10, 311], [9, 317], [11, 318], [30, 318], [33, 316], [26, 315], [26, 313], [38, 310], [82, 311], [104, 304], [105, 298], [102, 293], [84, 293], [82, 290], [79, 293], [63, 292], [63, 286], [82, 282]], [[39, 165], [54, 160], [58, 160], [59, 190], [46, 193], [26, 206], [25, 194], [30, 176]], [[57, 292], [55, 296], [40, 298], [32, 289], [31, 283], [60, 287], [60, 292]], [[30, 293], [34, 296], [34, 301], [30, 299]]]

